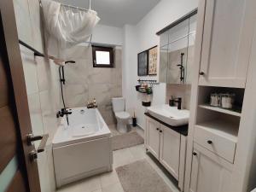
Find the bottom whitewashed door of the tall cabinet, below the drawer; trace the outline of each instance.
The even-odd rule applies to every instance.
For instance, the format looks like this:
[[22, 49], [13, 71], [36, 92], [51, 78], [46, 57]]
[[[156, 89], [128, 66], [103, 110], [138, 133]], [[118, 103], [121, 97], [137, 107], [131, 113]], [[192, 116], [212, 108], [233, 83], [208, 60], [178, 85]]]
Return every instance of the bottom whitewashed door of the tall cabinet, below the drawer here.
[[231, 192], [232, 165], [195, 143], [190, 192]]

